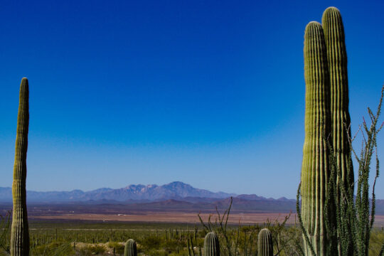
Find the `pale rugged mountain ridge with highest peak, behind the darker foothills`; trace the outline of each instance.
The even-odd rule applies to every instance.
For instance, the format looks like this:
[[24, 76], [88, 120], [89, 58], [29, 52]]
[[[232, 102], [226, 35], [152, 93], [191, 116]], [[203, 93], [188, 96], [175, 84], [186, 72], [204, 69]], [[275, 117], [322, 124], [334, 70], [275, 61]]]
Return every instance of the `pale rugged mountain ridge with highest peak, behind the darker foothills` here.
[[[186, 183], [175, 181], [163, 186], [129, 185], [125, 188], [98, 188], [93, 191], [27, 191], [28, 203], [64, 203], [80, 201], [118, 201], [118, 202], [151, 202], [183, 198], [228, 198], [236, 196], [231, 193], [211, 192], [193, 188]], [[0, 202], [12, 201], [12, 189], [0, 187]]]

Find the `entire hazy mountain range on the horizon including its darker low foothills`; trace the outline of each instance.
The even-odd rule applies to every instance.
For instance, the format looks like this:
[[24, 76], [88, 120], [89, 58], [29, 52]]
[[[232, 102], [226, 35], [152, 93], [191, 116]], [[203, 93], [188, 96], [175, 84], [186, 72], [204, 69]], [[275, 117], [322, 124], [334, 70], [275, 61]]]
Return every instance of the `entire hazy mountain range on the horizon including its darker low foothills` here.
[[[58, 213], [63, 209], [81, 210], [87, 213], [102, 212], [102, 205], [107, 206], [107, 213], [116, 210], [176, 210], [182, 212], [210, 211], [228, 208], [233, 197], [233, 210], [241, 213], [289, 213], [296, 212], [296, 200], [287, 198], [265, 198], [262, 196], [236, 195], [234, 193], [211, 192], [193, 188], [183, 182], [175, 181], [163, 186], [130, 185], [125, 188], [98, 188], [93, 191], [27, 191], [27, 202], [36, 206], [36, 213], [41, 214], [46, 206]], [[0, 187], [0, 210], [7, 210], [12, 203], [12, 189]], [[47, 209], [48, 209], [47, 208]], [[43, 209], [43, 210], [41, 210]], [[384, 200], [376, 200], [376, 213], [384, 215]]]

